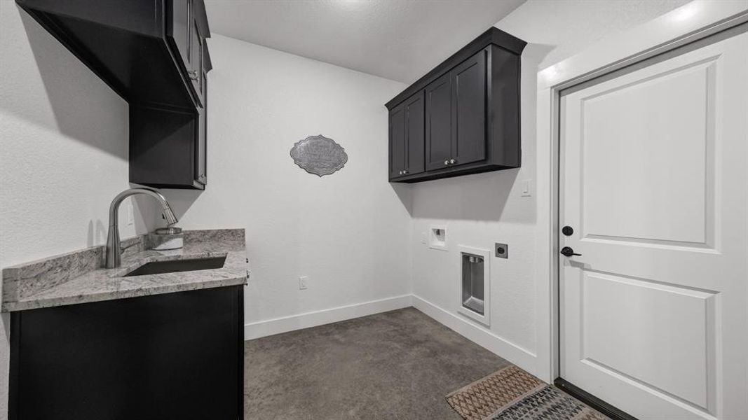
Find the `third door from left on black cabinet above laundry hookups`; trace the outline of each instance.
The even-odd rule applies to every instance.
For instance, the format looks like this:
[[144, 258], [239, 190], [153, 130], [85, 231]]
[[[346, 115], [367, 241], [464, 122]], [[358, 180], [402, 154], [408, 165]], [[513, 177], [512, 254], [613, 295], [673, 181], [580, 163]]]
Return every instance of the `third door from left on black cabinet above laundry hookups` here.
[[452, 84], [447, 73], [426, 86], [426, 170], [446, 167], [452, 155]]

